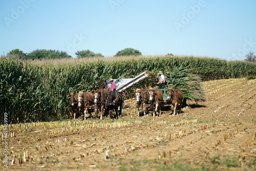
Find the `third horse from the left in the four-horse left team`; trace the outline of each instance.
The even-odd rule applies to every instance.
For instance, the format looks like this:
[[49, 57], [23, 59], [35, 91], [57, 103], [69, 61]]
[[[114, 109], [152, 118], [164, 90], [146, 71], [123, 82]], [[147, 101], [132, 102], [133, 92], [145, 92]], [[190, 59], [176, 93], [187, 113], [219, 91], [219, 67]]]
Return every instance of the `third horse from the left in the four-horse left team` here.
[[106, 94], [108, 94], [108, 90], [95, 90], [94, 91], [94, 104], [97, 105], [97, 112], [98, 109], [100, 110], [100, 120], [103, 119], [103, 110], [105, 110], [105, 103], [106, 103]]

